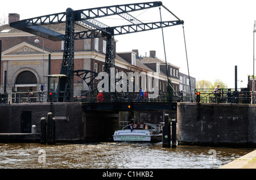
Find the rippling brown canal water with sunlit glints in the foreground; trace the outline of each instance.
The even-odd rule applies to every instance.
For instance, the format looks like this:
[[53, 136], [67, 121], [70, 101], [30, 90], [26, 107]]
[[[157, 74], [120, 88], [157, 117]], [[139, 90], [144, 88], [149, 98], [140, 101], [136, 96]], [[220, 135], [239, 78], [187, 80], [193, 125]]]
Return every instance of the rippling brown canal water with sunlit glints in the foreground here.
[[254, 149], [162, 143], [0, 143], [0, 169], [217, 169]]

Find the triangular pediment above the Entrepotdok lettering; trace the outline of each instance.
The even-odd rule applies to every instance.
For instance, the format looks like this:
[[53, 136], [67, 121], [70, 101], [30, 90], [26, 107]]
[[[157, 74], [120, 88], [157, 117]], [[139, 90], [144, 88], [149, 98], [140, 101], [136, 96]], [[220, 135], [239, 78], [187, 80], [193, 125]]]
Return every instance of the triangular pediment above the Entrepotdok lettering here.
[[41, 54], [41, 53], [49, 53], [46, 49], [37, 47], [33, 44], [23, 42], [14, 47], [7, 49], [2, 52], [2, 55], [28, 55], [28, 54]]

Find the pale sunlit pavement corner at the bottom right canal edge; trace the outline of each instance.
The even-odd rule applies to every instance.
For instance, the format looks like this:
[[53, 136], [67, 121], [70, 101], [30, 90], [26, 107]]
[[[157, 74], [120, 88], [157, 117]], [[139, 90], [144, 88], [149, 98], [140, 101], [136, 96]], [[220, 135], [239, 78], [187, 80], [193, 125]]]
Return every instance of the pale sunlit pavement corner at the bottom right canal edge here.
[[221, 166], [219, 169], [256, 169], [256, 150]]

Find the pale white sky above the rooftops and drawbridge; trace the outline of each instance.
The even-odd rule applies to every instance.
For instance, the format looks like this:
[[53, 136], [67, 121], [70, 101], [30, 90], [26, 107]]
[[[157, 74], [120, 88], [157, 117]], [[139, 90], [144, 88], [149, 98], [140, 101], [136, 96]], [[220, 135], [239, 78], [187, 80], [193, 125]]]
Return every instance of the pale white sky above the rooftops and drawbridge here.
[[[139, 2], [153, 1], [3, 1], [0, 19], [7, 18], [9, 13], [20, 14], [22, 20], [65, 12], [68, 7], [82, 10]], [[247, 87], [247, 75], [253, 74], [255, 0], [163, 0], [162, 3], [179, 19], [184, 20], [185, 43], [183, 27], [179, 25], [164, 28], [163, 34], [162, 30], [152, 30], [115, 36], [118, 40], [117, 52], [138, 49], [139, 55], [149, 56], [150, 51], [156, 51], [157, 57], [179, 66], [181, 73], [189, 72], [196, 81], [204, 79], [213, 83], [220, 79], [230, 88], [235, 86], [237, 66], [237, 87]], [[163, 20], [177, 20], [163, 8], [161, 11]], [[152, 19], [160, 21], [160, 12], [157, 8], [137, 14], [136, 17], [142, 22]], [[104, 19], [104, 23], [109, 26], [115, 21], [117, 19]]]

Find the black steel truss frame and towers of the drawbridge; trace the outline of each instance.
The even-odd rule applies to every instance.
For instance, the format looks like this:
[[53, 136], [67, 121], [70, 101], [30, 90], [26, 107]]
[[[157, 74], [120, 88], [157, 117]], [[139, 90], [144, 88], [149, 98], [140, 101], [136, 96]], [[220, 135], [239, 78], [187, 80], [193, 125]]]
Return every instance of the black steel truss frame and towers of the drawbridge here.
[[[177, 20], [143, 23], [141, 20], [138, 20], [133, 15], [129, 14], [129, 12], [146, 10], [160, 6], [163, 6], [162, 2], [132, 3], [127, 5], [96, 7], [76, 11], [68, 8], [65, 12], [20, 20], [18, 22], [11, 23], [10, 26], [53, 41], [65, 41], [60, 74], [65, 74], [67, 78], [60, 79], [59, 87], [60, 91], [63, 92], [63, 95], [60, 95], [59, 101], [73, 101], [75, 40], [106, 37], [105, 72], [110, 73], [110, 68], [114, 67], [115, 35], [155, 30], [157, 28], [176, 26], [184, 23], [183, 20], [177, 18], [177, 16], [164, 6], [163, 7], [174, 15]], [[112, 15], [119, 15], [131, 24], [126, 26], [109, 27], [108, 25], [96, 20], [96, 18]], [[65, 23], [65, 35], [56, 32], [54, 28], [48, 27], [55, 26], [55, 24], [60, 23]], [[75, 26], [79, 26], [84, 30], [76, 32]]]

